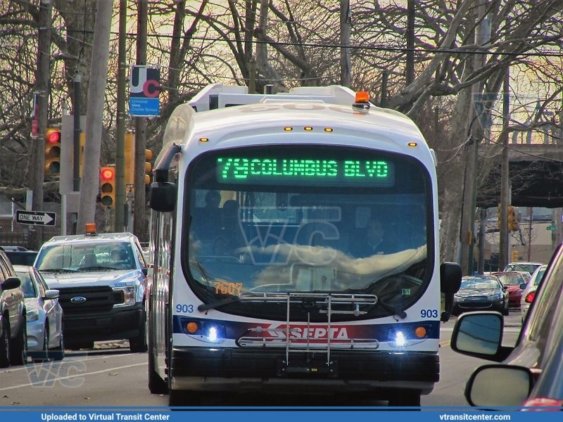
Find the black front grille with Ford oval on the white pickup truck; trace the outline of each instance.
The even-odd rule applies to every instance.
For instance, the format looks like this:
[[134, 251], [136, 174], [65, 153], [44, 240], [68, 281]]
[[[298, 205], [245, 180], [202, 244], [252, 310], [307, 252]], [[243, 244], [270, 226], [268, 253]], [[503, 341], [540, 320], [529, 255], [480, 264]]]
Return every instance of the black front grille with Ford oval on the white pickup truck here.
[[[58, 301], [65, 314], [84, 312], [109, 312], [113, 305], [123, 303], [123, 292], [110, 286], [59, 288]], [[72, 302], [72, 298], [84, 298], [82, 302]]]

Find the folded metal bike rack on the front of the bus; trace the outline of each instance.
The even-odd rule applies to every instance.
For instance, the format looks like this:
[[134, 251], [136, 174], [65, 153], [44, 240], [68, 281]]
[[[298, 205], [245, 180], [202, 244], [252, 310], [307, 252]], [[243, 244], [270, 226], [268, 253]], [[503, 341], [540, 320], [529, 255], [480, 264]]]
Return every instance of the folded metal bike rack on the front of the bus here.
[[[286, 323], [284, 328], [250, 328], [247, 333], [237, 340], [240, 347], [274, 347], [285, 348], [285, 360], [281, 362], [281, 372], [309, 372], [317, 371], [319, 373], [334, 371], [333, 362], [331, 362], [330, 352], [337, 349], [362, 349], [362, 350], [375, 350], [379, 347], [379, 340], [377, 338], [346, 338], [336, 339], [331, 338], [334, 331], [331, 330], [331, 315], [332, 314], [353, 314], [360, 316], [365, 314], [366, 311], [362, 307], [377, 304], [376, 295], [361, 295], [361, 294], [347, 294], [347, 293], [243, 293], [239, 296], [241, 302], [267, 302], [267, 303], [286, 303]], [[327, 336], [326, 338], [315, 338], [310, 335], [311, 322], [310, 311], [307, 312], [307, 325], [305, 336], [292, 337], [296, 335], [298, 328], [295, 325], [301, 325], [304, 321], [297, 323], [297, 321], [290, 322], [290, 309], [291, 304], [301, 305], [320, 305], [320, 313], [327, 314]], [[350, 305], [350, 309], [333, 309], [334, 305]], [[313, 326], [313, 328], [315, 328]], [[324, 324], [322, 326], [324, 328]], [[265, 333], [266, 331], [266, 333]], [[301, 340], [298, 342], [296, 340]], [[305, 342], [303, 342], [305, 340]], [[289, 354], [290, 352], [326, 352], [327, 353], [327, 367], [315, 368], [303, 366], [290, 366]]]

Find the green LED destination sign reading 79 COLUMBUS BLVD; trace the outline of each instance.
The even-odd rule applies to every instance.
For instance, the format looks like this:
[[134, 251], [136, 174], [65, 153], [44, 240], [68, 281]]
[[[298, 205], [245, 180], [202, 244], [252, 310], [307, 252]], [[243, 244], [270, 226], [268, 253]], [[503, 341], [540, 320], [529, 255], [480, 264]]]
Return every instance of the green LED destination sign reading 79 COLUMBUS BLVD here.
[[217, 158], [217, 181], [236, 184], [393, 186], [395, 166], [386, 160]]

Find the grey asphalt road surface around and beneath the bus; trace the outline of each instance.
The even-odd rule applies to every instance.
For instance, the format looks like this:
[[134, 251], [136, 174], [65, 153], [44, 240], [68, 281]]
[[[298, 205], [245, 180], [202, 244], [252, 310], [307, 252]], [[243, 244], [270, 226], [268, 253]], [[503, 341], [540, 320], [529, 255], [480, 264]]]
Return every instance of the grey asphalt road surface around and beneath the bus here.
[[[504, 344], [520, 330], [519, 311], [505, 317]], [[423, 407], [467, 406], [463, 390], [481, 359], [453, 352], [455, 319], [441, 326], [441, 380], [422, 397]], [[147, 355], [129, 352], [127, 342], [96, 343], [96, 349], [68, 352], [62, 362], [13, 366], [0, 370], [0, 407], [165, 407], [166, 395], [147, 388]], [[350, 396], [218, 395], [205, 406], [385, 406], [386, 402]]]

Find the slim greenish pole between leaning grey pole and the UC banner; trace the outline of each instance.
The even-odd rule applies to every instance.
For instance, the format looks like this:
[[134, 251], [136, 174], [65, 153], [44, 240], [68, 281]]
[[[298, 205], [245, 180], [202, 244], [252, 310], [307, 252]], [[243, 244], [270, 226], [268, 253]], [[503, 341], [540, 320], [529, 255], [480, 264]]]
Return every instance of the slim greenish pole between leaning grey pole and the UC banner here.
[[[115, 131], [115, 224], [116, 233], [125, 227], [125, 31], [127, 0], [119, 0], [118, 122]], [[143, 150], [144, 152], [144, 150]]]

